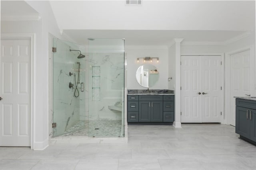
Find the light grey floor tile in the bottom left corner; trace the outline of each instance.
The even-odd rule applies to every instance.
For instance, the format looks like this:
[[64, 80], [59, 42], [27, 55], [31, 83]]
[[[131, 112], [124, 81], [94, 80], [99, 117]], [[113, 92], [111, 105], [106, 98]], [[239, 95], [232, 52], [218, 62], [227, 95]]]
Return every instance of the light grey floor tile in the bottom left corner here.
[[39, 160], [19, 160], [19, 159], [3, 159], [0, 160], [1, 170], [29, 170], [35, 166]]

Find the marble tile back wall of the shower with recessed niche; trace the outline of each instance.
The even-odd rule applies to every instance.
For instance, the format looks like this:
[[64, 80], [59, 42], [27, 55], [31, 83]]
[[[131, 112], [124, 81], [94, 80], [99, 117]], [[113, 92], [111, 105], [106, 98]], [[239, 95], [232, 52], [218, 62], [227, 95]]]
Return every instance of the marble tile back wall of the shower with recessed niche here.
[[[122, 112], [109, 109], [108, 106], [122, 107], [124, 55], [122, 53], [93, 53], [89, 56], [87, 59], [89, 69], [87, 108], [89, 112], [86, 115], [90, 120], [121, 120]], [[94, 77], [95, 75], [98, 77]], [[94, 87], [98, 87], [96, 91]]]

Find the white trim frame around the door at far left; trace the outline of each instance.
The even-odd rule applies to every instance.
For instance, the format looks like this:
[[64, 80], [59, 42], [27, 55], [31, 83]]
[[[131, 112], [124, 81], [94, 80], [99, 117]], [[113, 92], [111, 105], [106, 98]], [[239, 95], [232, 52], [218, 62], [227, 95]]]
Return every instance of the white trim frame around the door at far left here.
[[34, 130], [34, 118], [35, 118], [35, 97], [34, 97], [34, 90], [35, 90], [35, 78], [34, 78], [34, 72], [35, 72], [35, 33], [1, 33], [1, 40], [22, 40], [22, 39], [28, 39], [30, 40], [30, 138], [31, 138], [31, 149], [34, 149], [34, 143], [35, 143], [35, 130]]

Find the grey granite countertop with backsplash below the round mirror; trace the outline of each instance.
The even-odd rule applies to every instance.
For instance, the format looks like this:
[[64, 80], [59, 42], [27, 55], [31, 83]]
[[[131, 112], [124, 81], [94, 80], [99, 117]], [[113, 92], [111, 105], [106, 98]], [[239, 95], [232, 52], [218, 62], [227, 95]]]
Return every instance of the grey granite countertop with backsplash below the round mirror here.
[[174, 95], [174, 90], [127, 90], [127, 95]]

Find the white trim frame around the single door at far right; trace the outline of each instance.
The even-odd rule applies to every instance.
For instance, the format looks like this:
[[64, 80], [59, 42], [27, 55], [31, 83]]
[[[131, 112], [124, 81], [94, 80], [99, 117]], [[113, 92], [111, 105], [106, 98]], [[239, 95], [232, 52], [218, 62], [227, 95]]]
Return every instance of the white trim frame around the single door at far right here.
[[[254, 56], [254, 47], [253, 46], [249, 46], [249, 47], [244, 47], [244, 48], [241, 48], [241, 49], [237, 49], [235, 51], [230, 51], [230, 52], [227, 52], [225, 53], [225, 87], [224, 89], [225, 90], [225, 99], [224, 99], [224, 102], [225, 102], [225, 110], [224, 110], [224, 113], [225, 116], [224, 116], [224, 120], [225, 120], [225, 124], [228, 124], [230, 125], [230, 118], [231, 118], [231, 113], [230, 113], [230, 95], [231, 95], [231, 92], [230, 92], [230, 86], [231, 86], [231, 82], [230, 82], [230, 76], [231, 76], [231, 73], [230, 73], [230, 69], [231, 69], [231, 65], [230, 65], [230, 57], [231, 55], [234, 55], [234, 54], [237, 54], [237, 53], [241, 53], [243, 51], [250, 51], [250, 95], [251, 96], [255, 96], [256, 94], [253, 94], [254, 90], [254, 81], [255, 81], [255, 68], [254, 68], [254, 64], [255, 64], [255, 57]], [[241, 80], [242, 81], [242, 80]]]

